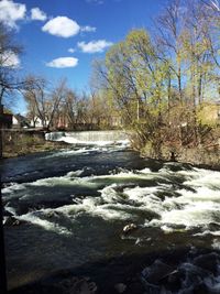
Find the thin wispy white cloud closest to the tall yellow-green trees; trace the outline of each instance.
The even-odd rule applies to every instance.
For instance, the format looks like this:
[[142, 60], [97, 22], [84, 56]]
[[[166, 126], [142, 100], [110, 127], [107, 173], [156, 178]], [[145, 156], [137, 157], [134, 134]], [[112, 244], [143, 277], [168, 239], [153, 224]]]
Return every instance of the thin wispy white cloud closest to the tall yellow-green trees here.
[[78, 47], [84, 53], [97, 53], [97, 52], [103, 52], [105, 48], [111, 46], [113, 43], [107, 42], [106, 40], [98, 40], [98, 41], [91, 41], [89, 43], [85, 42], [78, 42]]

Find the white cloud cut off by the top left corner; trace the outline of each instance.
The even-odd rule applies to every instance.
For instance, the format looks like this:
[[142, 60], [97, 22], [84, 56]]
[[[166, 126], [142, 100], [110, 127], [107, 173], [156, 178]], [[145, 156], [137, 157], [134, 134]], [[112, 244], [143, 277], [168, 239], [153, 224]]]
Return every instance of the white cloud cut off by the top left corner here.
[[11, 0], [0, 1], [0, 21], [11, 29], [16, 29], [16, 21], [25, 18], [25, 4], [16, 3]]

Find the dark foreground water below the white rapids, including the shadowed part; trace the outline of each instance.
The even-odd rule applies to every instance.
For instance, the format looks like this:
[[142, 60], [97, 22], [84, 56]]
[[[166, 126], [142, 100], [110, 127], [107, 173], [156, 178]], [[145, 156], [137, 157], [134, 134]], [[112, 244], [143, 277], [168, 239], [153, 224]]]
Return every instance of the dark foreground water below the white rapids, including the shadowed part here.
[[[85, 218], [85, 224], [88, 224], [88, 220]], [[103, 226], [100, 226], [100, 218], [96, 218], [92, 228], [88, 225], [78, 228], [73, 239], [45, 231], [38, 226], [34, 226], [33, 230], [33, 226], [30, 227], [29, 224], [11, 227], [12, 231], [7, 233], [7, 261], [11, 269], [8, 275], [11, 280], [9, 293], [113, 294], [120, 293], [116, 285], [121, 284], [127, 286], [123, 293], [176, 294], [182, 293], [177, 291], [184, 290], [187, 283], [189, 286], [195, 283], [195, 291], [186, 293], [219, 293], [208, 291], [204, 283], [206, 279], [216, 282], [215, 279], [219, 274], [217, 268], [220, 264], [220, 252], [211, 249], [209, 237], [200, 240], [195, 237], [193, 240], [190, 233], [164, 235], [160, 228], [140, 228], [122, 236], [121, 227], [125, 222], [101, 221]], [[88, 240], [80, 236], [82, 233], [92, 237], [95, 232], [97, 237]], [[135, 240], [140, 237], [142, 242], [139, 246]], [[21, 244], [22, 252], [25, 252], [22, 258], [19, 254]], [[36, 248], [37, 252], [41, 252], [37, 257]], [[11, 250], [18, 252], [16, 257], [10, 255]], [[14, 264], [19, 264], [15, 272]], [[153, 290], [152, 283], [146, 282], [147, 279], [143, 275], [145, 269], [150, 270], [151, 280], [156, 284]], [[188, 281], [187, 276], [191, 276], [191, 280]], [[96, 292], [73, 291], [77, 279], [87, 281], [87, 277], [96, 284]], [[187, 283], [182, 280], [187, 280]], [[163, 287], [173, 287], [176, 292], [160, 292]]]

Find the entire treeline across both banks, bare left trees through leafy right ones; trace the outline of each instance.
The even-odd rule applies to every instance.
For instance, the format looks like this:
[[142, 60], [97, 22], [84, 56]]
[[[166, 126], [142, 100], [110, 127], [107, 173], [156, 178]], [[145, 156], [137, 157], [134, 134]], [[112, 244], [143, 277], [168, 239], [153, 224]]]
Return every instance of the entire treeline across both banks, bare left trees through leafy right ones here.
[[[0, 23], [0, 105], [20, 91], [32, 126], [44, 129], [123, 127], [136, 149], [160, 157], [162, 146], [215, 144], [220, 137], [220, 6], [170, 0], [154, 28], [132, 30], [96, 61], [92, 90], [77, 92], [61, 80], [16, 74], [22, 53]], [[0, 108], [1, 110], [1, 108]], [[1, 120], [0, 120], [1, 121]]]

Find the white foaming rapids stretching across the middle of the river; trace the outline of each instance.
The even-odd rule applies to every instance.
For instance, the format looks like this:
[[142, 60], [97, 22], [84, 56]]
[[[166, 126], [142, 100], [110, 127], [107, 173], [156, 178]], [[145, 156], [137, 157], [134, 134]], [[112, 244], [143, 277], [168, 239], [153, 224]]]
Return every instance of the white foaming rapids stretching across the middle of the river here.
[[[54, 209], [67, 217], [80, 213], [98, 216], [105, 220], [134, 220], [139, 218], [140, 213], [145, 211], [146, 227], [172, 231], [176, 225], [182, 225], [186, 229], [197, 227], [201, 230], [200, 233], [205, 233], [210, 224], [220, 224], [218, 172], [199, 168], [173, 172], [165, 166], [158, 172], [151, 172], [150, 168], [124, 170], [109, 175], [80, 177], [82, 172], [82, 170], [73, 171], [61, 177], [38, 179], [30, 184], [14, 184], [2, 190], [3, 197], [6, 200], [18, 198], [20, 202], [48, 199], [48, 197], [57, 200], [54, 193], [57, 189], [68, 188], [68, 196], [73, 198], [74, 204]], [[174, 185], [174, 181], [179, 177], [185, 188]], [[44, 187], [48, 189], [48, 195], [43, 193]], [[82, 187], [88, 188], [88, 193], [96, 190], [97, 196], [78, 197], [76, 189]], [[216, 236], [215, 231], [209, 230], [209, 232]]]

